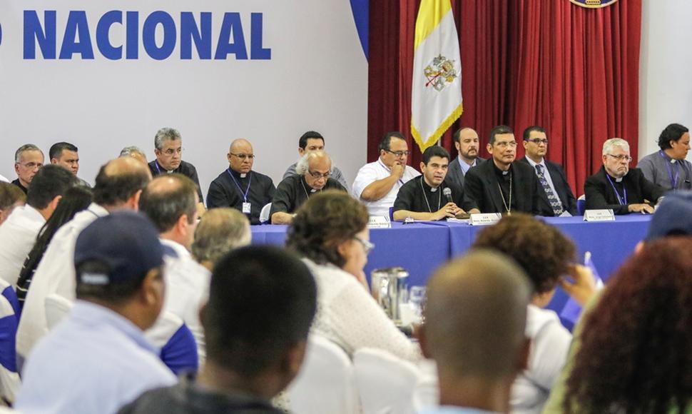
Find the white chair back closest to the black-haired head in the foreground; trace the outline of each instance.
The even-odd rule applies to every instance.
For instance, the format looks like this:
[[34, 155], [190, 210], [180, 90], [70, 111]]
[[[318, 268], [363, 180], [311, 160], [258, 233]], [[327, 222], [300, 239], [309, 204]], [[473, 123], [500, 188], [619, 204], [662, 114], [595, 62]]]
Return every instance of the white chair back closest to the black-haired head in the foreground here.
[[344, 350], [326, 338], [311, 335], [305, 360], [288, 387], [295, 414], [357, 414], [353, 364]]

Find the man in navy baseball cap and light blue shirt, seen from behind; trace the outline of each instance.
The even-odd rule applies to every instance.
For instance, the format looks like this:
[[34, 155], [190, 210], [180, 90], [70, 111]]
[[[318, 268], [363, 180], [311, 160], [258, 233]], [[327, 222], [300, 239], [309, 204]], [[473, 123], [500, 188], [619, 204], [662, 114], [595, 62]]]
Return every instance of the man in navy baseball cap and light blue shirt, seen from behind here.
[[26, 361], [16, 400], [23, 413], [115, 413], [175, 383], [142, 332], [165, 290], [153, 224], [125, 211], [96, 219], [77, 238], [74, 264], [77, 301]]

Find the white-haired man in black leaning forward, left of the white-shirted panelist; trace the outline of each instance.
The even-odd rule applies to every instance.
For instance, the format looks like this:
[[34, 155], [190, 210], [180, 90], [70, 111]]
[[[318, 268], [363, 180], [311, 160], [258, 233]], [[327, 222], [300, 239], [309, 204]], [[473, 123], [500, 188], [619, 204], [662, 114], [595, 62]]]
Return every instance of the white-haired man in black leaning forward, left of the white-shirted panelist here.
[[295, 166], [295, 176], [286, 177], [276, 188], [269, 213], [272, 224], [290, 224], [293, 213], [314, 193], [333, 188], [346, 191], [332, 175], [332, 158], [324, 151], [306, 153]]

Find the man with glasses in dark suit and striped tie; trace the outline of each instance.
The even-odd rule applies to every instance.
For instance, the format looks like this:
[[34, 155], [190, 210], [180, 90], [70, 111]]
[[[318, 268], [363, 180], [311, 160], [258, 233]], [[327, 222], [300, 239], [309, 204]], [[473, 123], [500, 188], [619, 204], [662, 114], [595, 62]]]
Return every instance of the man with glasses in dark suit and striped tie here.
[[555, 216], [559, 216], [565, 211], [572, 216], [579, 214], [576, 211], [576, 198], [569, 188], [564, 169], [560, 164], [545, 159], [548, 152], [546, 130], [541, 126], [529, 126], [529, 128], [524, 129], [524, 150], [526, 156], [521, 158], [519, 162], [534, 168], [543, 188], [541, 202], [551, 209]]

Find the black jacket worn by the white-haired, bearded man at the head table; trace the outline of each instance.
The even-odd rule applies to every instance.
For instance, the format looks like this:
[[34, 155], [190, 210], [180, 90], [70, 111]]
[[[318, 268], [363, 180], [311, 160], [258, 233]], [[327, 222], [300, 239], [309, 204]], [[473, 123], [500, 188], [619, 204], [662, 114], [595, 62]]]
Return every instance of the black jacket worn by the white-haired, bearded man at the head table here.
[[645, 199], [655, 204], [658, 198], [666, 193], [666, 188], [648, 181], [639, 168], [630, 168], [627, 175], [622, 178], [622, 184], [627, 191], [627, 204], [624, 206], [620, 204], [610, 181], [606, 178], [606, 169], [601, 166], [599, 172], [586, 178], [584, 183], [586, 210], [612, 208], [616, 214], [628, 214], [627, 205], [641, 204]]

